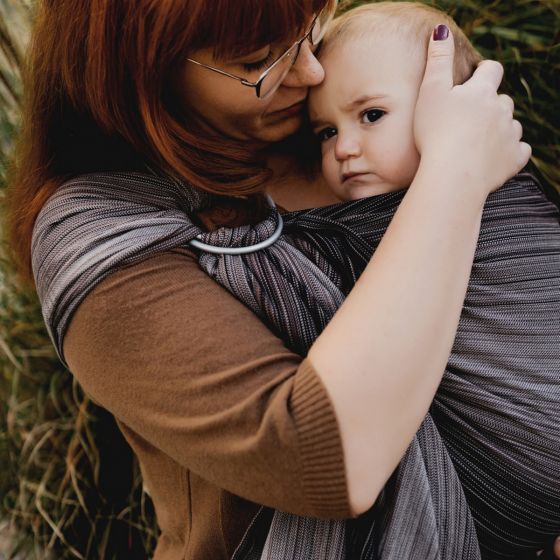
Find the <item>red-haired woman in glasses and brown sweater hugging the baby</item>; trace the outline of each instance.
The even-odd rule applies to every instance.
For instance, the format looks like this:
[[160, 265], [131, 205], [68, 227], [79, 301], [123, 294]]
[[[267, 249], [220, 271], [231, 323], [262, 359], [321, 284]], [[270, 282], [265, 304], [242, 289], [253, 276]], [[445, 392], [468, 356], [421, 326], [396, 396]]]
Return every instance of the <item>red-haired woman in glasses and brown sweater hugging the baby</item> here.
[[[270, 245], [281, 221], [258, 193], [287, 210], [332, 201], [294, 156], [265, 148], [297, 131], [323, 79], [312, 43], [333, 7], [41, 7], [12, 240], [28, 276], [33, 254], [61, 358], [140, 459], [158, 560], [251, 557], [270, 523], [259, 504], [338, 519], [374, 504], [447, 361], [484, 200], [530, 155], [511, 99], [496, 94], [499, 65], [452, 89], [452, 41], [439, 28], [416, 178], [307, 356], [289, 350], [257, 316], [271, 288], [262, 266], [276, 256], [305, 280], [312, 265], [283, 239]], [[214, 235], [203, 224], [237, 227]], [[190, 244], [198, 236], [202, 249]], [[242, 257], [208, 248], [261, 241], [266, 251]], [[208, 274], [242, 286], [243, 303]]]

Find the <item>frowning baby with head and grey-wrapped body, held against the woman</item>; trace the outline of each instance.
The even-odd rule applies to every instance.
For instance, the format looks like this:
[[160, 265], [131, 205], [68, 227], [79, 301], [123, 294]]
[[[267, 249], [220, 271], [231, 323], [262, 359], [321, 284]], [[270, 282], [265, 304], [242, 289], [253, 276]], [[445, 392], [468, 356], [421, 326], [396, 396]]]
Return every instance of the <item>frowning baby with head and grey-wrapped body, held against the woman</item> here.
[[[481, 57], [451, 18], [422, 4], [351, 10], [321, 46], [326, 78], [310, 93], [310, 122], [326, 182], [341, 201], [356, 201], [348, 224], [362, 214], [359, 231], [371, 251], [419, 165], [413, 117], [422, 44], [440, 23], [453, 33], [454, 83], [461, 84]], [[560, 530], [560, 226], [557, 209], [526, 173], [488, 198], [430, 413], [483, 558], [525, 557], [546, 546]]]

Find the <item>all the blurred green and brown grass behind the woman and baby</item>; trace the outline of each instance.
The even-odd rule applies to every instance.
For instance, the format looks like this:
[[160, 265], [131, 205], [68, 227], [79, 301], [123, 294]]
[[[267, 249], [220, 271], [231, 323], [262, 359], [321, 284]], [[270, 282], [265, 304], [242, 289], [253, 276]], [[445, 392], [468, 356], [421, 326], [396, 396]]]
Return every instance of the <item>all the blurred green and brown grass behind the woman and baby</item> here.
[[[363, 2], [345, 2], [345, 6]], [[506, 69], [502, 90], [533, 147], [531, 169], [560, 192], [560, 0], [426, 2], [455, 17]], [[18, 126], [32, 0], [0, 0], [0, 203]], [[147, 558], [157, 537], [138, 466], [111, 416], [55, 358], [33, 293], [0, 246], [0, 528], [10, 554]]]

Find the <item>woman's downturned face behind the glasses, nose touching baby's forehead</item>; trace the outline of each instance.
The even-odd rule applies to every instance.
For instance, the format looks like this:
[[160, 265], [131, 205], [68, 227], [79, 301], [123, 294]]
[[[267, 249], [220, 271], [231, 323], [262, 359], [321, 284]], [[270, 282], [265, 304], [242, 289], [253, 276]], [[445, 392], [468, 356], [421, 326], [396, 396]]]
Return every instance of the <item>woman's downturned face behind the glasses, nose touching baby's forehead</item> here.
[[[269, 45], [232, 60], [216, 60], [212, 49], [190, 53], [197, 62], [255, 82], [267, 66], [290, 45]], [[179, 78], [179, 98], [203, 126], [238, 140], [276, 142], [293, 134], [301, 125], [309, 87], [322, 82], [324, 72], [308, 40], [280, 87], [266, 99], [255, 88], [190, 62]]]

